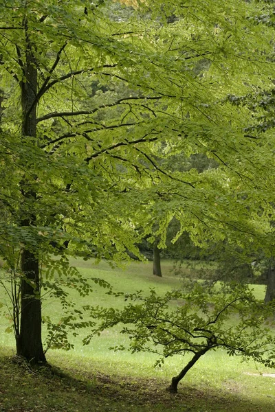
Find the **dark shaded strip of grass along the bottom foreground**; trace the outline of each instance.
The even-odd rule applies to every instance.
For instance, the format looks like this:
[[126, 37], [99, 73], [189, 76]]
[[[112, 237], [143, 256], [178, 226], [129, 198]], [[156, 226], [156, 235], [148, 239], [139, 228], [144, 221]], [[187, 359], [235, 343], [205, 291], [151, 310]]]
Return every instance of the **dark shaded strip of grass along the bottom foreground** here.
[[[238, 393], [185, 386], [171, 395], [167, 382], [121, 378], [97, 371], [31, 369], [0, 357], [0, 412], [270, 412], [272, 399], [250, 402]], [[274, 402], [274, 399], [273, 399]]]

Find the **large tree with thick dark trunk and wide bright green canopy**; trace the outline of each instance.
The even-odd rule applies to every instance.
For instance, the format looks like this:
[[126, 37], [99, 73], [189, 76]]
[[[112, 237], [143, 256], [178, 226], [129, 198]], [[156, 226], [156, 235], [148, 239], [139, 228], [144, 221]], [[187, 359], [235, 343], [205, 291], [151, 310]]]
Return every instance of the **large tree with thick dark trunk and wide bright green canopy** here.
[[[273, 32], [254, 20], [269, 6], [139, 5], [0, 5], [1, 254], [20, 258], [17, 352], [29, 361], [45, 361], [40, 267], [51, 253], [127, 259], [135, 227], [146, 235], [157, 221], [163, 247], [173, 216], [197, 243], [270, 231], [258, 211], [272, 195], [262, 166], [273, 165], [274, 139], [246, 133], [250, 110], [228, 98], [270, 88]], [[93, 81], [108, 87], [93, 95]], [[155, 162], [179, 152], [221, 168], [202, 177]]]

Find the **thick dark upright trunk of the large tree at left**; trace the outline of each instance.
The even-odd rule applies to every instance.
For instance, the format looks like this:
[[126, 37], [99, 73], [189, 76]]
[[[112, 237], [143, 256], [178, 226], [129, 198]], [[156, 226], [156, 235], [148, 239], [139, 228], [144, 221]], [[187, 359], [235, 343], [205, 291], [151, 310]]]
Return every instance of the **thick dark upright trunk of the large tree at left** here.
[[[37, 69], [32, 43], [28, 36], [28, 21], [24, 21], [23, 26], [25, 29], [25, 62], [21, 60], [21, 50], [17, 50], [24, 75], [24, 81], [21, 82], [22, 144], [24, 141], [28, 141], [29, 137], [36, 137], [37, 104]], [[35, 180], [35, 176], [33, 179]], [[36, 201], [36, 193], [32, 190], [32, 184], [26, 177], [21, 182], [21, 193], [25, 198], [25, 204], [28, 205], [21, 226], [35, 226], [36, 216], [33, 213], [32, 205]], [[45, 362], [45, 354], [41, 339], [42, 317], [37, 251], [36, 253], [30, 251], [28, 247], [22, 250], [21, 271], [23, 274], [21, 279], [21, 319], [17, 354], [32, 361], [32, 363], [41, 363]]]

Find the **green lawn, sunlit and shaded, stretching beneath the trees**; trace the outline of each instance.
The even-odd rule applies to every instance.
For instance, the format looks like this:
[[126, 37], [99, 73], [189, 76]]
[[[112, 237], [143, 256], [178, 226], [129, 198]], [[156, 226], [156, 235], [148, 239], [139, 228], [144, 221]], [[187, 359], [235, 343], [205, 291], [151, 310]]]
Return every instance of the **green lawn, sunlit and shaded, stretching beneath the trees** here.
[[[102, 277], [115, 290], [149, 290], [158, 293], [179, 286], [173, 276], [173, 263], [164, 261], [164, 277], [151, 274], [152, 263], [138, 264], [122, 269], [110, 269], [102, 262], [74, 261], [87, 278]], [[186, 273], [190, 271], [186, 268]], [[79, 304], [121, 307], [123, 301], [105, 294], [95, 284], [89, 297], [73, 299]], [[2, 292], [0, 292], [2, 293]], [[255, 286], [257, 297], [263, 298], [264, 287]], [[4, 301], [3, 293], [1, 300]], [[43, 310], [60, 317], [58, 301], [43, 302]], [[126, 343], [126, 336], [117, 330], [105, 331], [90, 345], [81, 341], [89, 331], [82, 330], [75, 339], [74, 350], [49, 350], [47, 360], [52, 369], [31, 370], [14, 359], [12, 334], [3, 332], [8, 319], [0, 319], [0, 412], [3, 411], [261, 411], [275, 410], [275, 374], [254, 363], [241, 363], [239, 358], [228, 357], [223, 351], [206, 354], [179, 384], [179, 393], [170, 395], [165, 389], [170, 378], [188, 361], [187, 357], [172, 358], [162, 368], [154, 369], [152, 354], [112, 352], [109, 346]]]

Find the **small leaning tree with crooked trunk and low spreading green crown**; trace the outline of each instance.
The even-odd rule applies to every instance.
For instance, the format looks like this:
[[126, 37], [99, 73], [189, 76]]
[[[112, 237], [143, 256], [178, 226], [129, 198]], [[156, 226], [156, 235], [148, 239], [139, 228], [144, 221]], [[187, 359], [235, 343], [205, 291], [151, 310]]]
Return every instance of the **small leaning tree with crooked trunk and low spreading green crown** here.
[[120, 332], [129, 335], [128, 350], [159, 354], [155, 365], [162, 365], [170, 356], [192, 354], [191, 360], [172, 378], [168, 387], [172, 393], [177, 393], [179, 381], [201, 356], [219, 347], [229, 356], [241, 355], [263, 365], [275, 365], [275, 338], [268, 321], [274, 306], [256, 300], [246, 286], [206, 290], [196, 284], [190, 292], [174, 290], [161, 297], [151, 290], [147, 297], [137, 292], [124, 295], [124, 299], [130, 303], [122, 310], [93, 312], [102, 322], [85, 343], [93, 334], [121, 324]]

